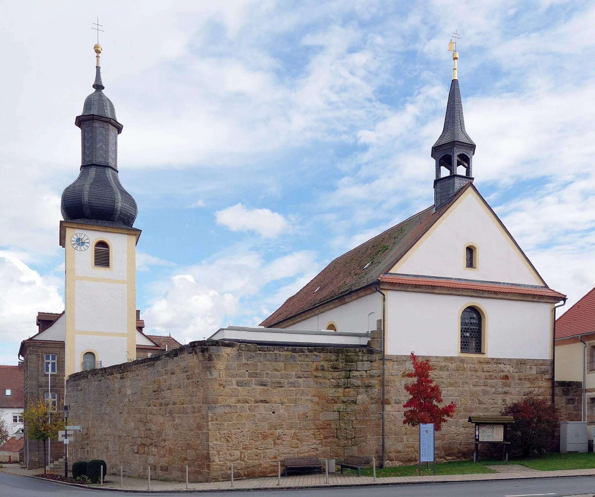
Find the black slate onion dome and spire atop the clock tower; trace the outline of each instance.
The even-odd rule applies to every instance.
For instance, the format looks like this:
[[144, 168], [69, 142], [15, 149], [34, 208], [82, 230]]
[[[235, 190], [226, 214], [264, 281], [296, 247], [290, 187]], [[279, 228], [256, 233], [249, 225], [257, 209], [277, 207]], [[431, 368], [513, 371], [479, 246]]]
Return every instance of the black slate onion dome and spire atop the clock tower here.
[[79, 177], [62, 193], [61, 210], [65, 221], [132, 227], [137, 207], [118, 178], [118, 134], [123, 126], [115, 108], [105, 96], [101, 81], [99, 54], [96, 54], [95, 82], [84, 100], [83, 112], [74, 120], [81, 132], [82, 161]]

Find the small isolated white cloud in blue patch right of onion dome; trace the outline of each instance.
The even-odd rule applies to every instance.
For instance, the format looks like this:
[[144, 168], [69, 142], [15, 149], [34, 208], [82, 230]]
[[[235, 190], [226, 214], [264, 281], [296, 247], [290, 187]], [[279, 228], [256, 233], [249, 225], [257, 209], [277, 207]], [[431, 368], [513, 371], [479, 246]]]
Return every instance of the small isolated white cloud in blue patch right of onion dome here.
[[217, 224], [231, 231], [256, 231], [262, 237], [275, 238], [287, 227], [286, 219], [269, 209], [248, 210], [241, 203], [215, 212]]

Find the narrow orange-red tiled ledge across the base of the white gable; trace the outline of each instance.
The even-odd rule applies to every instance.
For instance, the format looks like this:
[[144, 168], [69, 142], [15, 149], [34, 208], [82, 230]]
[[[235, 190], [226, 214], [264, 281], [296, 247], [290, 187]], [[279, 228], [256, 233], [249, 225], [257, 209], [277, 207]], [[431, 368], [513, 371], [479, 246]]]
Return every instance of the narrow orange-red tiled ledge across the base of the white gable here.
[[495, 293], [540, 295], [543, 297], [559, 298], [559, 300], [562, 300], [562, 298], [566, 296], [547, 287], [534, 287], [529, 285], [507, 285], [491, 282], [483, 283], [477, 281], [465, 281], [460, 279], [418, 278], [415, 276], [387, 274], [381, 275], [378, 278], [378, 281], [386, 283], [399, 283], [402, 285], [418, 285], [424, 287], [461, 288], [462, 290], [483, 290]]

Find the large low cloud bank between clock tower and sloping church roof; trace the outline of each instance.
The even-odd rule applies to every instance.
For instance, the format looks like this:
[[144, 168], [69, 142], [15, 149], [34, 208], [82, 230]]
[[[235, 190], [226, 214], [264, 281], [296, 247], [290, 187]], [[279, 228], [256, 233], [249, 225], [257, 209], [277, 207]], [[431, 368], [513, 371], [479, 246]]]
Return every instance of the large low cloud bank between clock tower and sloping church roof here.
[[[162, 297], [143, 313], [146, 326], [188, 341], [209, 336], [227, 323], [258, 325], [286, 298], [312, 279], [315, 254], [299, 251], [265, 262], [249, 250], [219, 254], [172, 276]], [[276, 288], [273, 295], [267, 285]], [[280, 287], [280, 288], [279, 288]], [[177, 336], [179, 335], [179, 336]]]

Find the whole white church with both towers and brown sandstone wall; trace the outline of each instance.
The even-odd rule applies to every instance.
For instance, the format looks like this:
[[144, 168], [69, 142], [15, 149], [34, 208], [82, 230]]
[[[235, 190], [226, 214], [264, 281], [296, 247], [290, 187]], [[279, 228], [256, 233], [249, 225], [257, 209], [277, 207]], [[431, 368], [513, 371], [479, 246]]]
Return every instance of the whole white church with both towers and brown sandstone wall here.
[[[64, 395], [83, 427], [73, 460], [174, 480], [187, 467], [192, 482], [227, 480], [232, 463], [236, 477], [272, 476], [300, 455], [412, 464], [411, 351], [431, 361], [444, 401], [456, 404], [437, 461], [471, 458], [469, 416], [553, 395], [553, 307], [565, 295], [473, 184], [457, 59], [431, 148], [434, 205], [337, 257], [261, 326], [228, 326], [145, 358], [136, 356], [147, 338], [135, 327], [136, 204], [118, 181], [121, 124], [97, 64], [76, 120], [83, 165], [62, 196]], [[82, 370], [85, 354], [108, 367]]]

